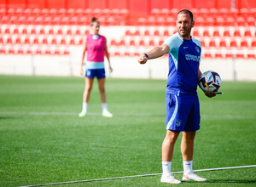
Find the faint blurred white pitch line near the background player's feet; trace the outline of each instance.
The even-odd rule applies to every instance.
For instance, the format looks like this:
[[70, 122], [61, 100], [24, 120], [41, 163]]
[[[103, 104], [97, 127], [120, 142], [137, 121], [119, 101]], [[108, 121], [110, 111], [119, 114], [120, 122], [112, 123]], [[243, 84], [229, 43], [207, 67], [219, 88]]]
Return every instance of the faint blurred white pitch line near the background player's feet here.
[[[75, 112], [44, 112], [44, 111], [0, 111], [0, 115], [38, 115], [38, 116], [78, 116]], [[87, 116], [102, 116], [102, 113], [88, 113]], [[113, 116], [166, 116], [165, 114], [113, 114]], [[222, 119], [256, 119], [256, 116], [231, 116], [231, 115], [201, 115], [202, 118]]]

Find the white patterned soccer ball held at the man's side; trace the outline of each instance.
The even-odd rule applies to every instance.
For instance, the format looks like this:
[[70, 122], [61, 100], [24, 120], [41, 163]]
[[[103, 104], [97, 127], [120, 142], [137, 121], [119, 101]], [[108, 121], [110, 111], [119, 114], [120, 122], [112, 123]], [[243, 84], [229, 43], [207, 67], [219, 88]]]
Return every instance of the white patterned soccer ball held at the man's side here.
[[201, 74], [199, 87], [204, 92], [218, 92], [221, 85], [221, 78], [215, 71], [206, 71]]

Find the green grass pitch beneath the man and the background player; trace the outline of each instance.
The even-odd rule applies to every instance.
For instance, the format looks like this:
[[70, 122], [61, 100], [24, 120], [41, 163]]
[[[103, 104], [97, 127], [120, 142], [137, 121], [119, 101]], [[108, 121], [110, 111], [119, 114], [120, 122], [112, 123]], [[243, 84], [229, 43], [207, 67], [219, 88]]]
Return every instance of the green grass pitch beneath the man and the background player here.
[[[256, 82], [223, 82], [224, 95], [201, 101], [194, 169], [256, 164]], [[161, 173], [166, 134], [165, 80], [108, 78], [108, 109], [101, 116], [97, 82], [89, 115], [79, 118], [82, 77], [0, 76], [0, 186], [52, 184]], [[183, 171], [177, 140], [172, 172]], [[256, 186], [256, 168], [200, 172], [207, 183]], [[182, 173], [175, 174], [177, 179]], [[160, 175], [57, 186], [170, 186]]]

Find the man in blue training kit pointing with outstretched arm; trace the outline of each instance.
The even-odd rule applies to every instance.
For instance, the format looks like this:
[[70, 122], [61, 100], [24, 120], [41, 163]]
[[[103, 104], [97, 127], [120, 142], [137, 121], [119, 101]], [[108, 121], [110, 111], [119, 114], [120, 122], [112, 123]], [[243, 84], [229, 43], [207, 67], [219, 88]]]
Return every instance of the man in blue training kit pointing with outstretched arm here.
[[[171, 165], [174, 144], [183, 132], [181, 152], [183, 155], [183, 180], [207, 181], [193, 172], [192, 161], [195, 133], [200, 129], [200, 106], [197, 96], [197, 83], [201, 77], [201, 42], [190, 36], [195, 25], [193, 14], [182, 9], [177, 13], [177, 33], [159, 47], [137, 60], [145, 64], [148, 59], [156, 59], [169, 54], [169, 73], [166, 88], [166, 138], [162, 144], [162, 169], [160, 181], [180, 184], [172, 176]], [[216, 94], [206, 93], [212, 98]]]

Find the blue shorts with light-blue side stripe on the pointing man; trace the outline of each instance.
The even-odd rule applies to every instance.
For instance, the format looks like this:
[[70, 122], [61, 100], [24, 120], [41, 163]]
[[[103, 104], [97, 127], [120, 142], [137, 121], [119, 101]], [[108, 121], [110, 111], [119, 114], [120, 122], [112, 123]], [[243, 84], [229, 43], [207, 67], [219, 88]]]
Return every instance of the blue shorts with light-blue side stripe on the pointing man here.
[[166, 129], [173, 131], [197, 131], [200, 129], [198, 96], [166, 94]]

